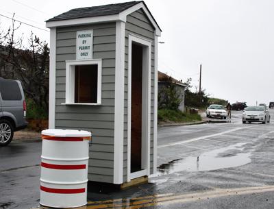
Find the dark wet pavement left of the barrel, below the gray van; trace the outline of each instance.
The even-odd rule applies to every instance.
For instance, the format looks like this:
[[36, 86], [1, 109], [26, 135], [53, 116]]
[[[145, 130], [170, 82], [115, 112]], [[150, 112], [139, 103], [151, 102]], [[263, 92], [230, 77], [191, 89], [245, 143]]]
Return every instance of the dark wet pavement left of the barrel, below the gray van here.
[[39, 203], [41, 143], [0, 147], [0, 208], [31, 208]]

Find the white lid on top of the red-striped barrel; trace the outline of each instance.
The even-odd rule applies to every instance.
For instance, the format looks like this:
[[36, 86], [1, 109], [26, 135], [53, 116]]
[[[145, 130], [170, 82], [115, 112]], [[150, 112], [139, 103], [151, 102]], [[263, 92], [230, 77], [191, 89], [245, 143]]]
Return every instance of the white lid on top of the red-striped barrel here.
[[91, 133], [87, 131], [78, 131], [78, 130], [48, 129], [48, 130], [43, 130], [42, 135], [59, 136], [59, 137], [87, 137], [87, 136], [91, 136]]

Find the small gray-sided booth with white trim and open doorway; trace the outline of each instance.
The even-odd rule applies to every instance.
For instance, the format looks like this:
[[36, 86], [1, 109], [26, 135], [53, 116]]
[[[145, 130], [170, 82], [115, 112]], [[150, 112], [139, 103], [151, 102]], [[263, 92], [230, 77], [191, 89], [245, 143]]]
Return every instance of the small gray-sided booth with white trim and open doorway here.
[[49, 128], [92, 132], [89, 181], [155, 173], [161, 29], [145, 2], [77, 8], [46, 25]]

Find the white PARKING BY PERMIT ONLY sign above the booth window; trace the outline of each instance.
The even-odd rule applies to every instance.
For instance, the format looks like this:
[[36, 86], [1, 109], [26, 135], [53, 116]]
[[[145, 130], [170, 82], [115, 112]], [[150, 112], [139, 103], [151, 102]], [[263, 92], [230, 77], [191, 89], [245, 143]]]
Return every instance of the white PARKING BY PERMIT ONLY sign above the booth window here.
[[78, 31], [76, 34], [76, 59], [92, 59], [93, 30]]

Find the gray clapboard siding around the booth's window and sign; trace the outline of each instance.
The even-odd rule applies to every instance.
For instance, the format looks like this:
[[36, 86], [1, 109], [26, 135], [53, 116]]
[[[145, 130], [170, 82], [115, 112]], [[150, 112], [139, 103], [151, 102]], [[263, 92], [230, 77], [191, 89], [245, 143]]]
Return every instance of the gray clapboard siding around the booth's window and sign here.
[[[92, 132], [88, 178], [113, 182], [115, 23], [60, 27], [56, 40], [55, 127]], [[76, 60], [77, 30], [93, 29], [93, 58], [102, 62], [101, 106], [64, 106], [66, 60]]]

